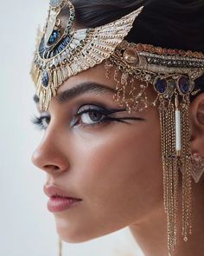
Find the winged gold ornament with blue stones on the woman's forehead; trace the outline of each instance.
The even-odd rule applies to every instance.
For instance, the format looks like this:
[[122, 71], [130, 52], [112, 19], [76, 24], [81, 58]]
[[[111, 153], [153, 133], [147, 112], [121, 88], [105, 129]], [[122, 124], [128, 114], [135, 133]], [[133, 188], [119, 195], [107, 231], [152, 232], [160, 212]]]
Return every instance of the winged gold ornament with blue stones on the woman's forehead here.
[[[67, 7], [68, 21], [62, 13]], [[142, 9], [95, 29], [75, 30], [73, 4], [67, 0], [50, 1], [48, 21], [39, 36], [31, 70], [40, 108], [48, 110], [52, 96], [67, 78], [109, 58]]]

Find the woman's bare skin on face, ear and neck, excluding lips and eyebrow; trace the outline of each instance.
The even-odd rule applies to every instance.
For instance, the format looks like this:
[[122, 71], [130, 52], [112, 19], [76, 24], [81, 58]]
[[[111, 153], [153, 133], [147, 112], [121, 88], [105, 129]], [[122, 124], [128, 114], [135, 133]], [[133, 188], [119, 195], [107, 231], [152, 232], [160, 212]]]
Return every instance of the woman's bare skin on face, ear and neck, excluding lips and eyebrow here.
[[[105, 77], [102, 63], [69, 78], [58, 89], [58, 94], [84, 82], [115, 89], [112, 77], [113, 73], [110, 79]], [[152, 102], [155, 92], [150, 88], [147, 93]], [[93, 115], [86, 113], [74, 122], [80, 107], [91, 104], [108, 109], [124, 108], [113, 100], [111, 91], [101, 91], [86, 92], [63, 103], [53, 98], [48, 112], [41, 113], [50, 118], [44, 120], [48, 125], [32, 161], [47, 173], [47, 184], [82, 199], [78, 206], [54, 213], [59, 236], [69, 243], [80, 243], [130, 226], [145, 256], [168, 256], [157, 108], [111, 115], [138, 120], [106, 121], [92, 126]], [[190, 117], [192, 152], [204, 156], [204, 94], [191, 104]], [[203, 178], [196, 185], [193, 182], [193, 203], [193, 234], [185, 243], [179, 231], [174, 256], [203, 256]], [[179, 218], [181, 223], [181, 213]]]

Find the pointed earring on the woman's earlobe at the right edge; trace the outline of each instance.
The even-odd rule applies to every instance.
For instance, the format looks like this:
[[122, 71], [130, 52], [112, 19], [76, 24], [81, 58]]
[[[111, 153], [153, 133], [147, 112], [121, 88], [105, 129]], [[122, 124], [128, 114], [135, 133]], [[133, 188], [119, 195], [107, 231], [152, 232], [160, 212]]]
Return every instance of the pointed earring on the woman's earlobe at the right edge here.
[[201, 175], [204, 173], [204, 157], [201, 157], [199, 153], [194, 153], [191, 156], [192, 161], [192, 177], [194, 182], [198, 183], [201, 179]]

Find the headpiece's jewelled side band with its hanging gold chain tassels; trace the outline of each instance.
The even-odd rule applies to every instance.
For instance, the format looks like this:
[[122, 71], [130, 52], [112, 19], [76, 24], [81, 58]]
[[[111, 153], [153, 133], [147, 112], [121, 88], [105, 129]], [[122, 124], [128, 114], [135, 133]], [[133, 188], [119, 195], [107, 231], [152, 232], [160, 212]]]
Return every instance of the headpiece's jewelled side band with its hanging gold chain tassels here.
[[[190, 150], [189, 106], [194, 82], [204, 75], [204, 55], [201, 52], [163, 49], [150, 44], [128, 43], [118, 45], [105, 62], [107, 77], [115, 68], [116, 102], [131, 111], [156, 107], [161, 124], [163, 161], [163, 198], [167, 213], [168, 249], [176, 245], [178, 211], [178, 177], [182, 174], [182, 236], [188, 241], [192, 233], [191, 180], [194, 177]], [[128, 86], [129, 84], [129, 86]], [[156, 91], [150, 102], [146, 90]]]

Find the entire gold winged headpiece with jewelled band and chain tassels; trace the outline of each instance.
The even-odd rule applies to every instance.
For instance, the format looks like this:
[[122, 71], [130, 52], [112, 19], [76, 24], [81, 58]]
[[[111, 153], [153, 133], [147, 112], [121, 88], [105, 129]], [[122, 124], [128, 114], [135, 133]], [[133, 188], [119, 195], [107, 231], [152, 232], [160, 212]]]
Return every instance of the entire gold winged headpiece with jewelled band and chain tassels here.
[[[67, 7], [70, 14], [66, 22], [62, 10]], [[107, 76], [112, 67], [116, 68], [117, 94], [114, 99], [118, 104], [125, 104], [129, 111], [142, 111], [158, 102], [164, 208], [171, 253], [175, 249], [177, 233], [179, 171], [182, 173], [182, 235], [185, 241], [192, 228], [189, 98], [199, 91], [194, 91], [194, 81], [204, 74], [204, 55], [191, 50], [163, 49], [124, 41], [142, 10], [143, 7], [95, 29], [75, 30], [73, 4], [67, 0], [50, 0], [48, 21], [39, 36], [31, 75], [41, 110], [48, 109], [62, 82], [103, 61]], [[146, 94], [146, 89], [152, 85], [157, 93], [154, 102], [148, 101]]]

